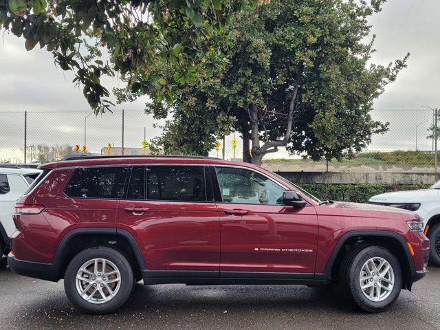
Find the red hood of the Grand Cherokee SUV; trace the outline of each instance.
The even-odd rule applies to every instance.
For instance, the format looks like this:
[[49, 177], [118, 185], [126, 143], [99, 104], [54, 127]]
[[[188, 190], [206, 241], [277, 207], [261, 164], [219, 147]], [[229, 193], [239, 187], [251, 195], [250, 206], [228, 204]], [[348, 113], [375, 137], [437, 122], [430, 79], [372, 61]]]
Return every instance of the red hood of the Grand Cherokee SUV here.
[[369, 217], [386, 219], [415, 219], [419, 216], [414, 212], [390, 206], [381, 206], [363, 203], [348, 203], [335, 201], [316, 207], [318, 215], [333, 215], [344, 217]]

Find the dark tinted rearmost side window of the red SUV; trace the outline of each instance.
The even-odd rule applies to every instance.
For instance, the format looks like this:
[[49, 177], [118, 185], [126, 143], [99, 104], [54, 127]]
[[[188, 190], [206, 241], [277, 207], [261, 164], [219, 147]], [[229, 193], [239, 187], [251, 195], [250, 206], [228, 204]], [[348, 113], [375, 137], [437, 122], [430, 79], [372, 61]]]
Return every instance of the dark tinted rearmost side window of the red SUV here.
[[127, 170], [126, 167], [76, 168], [64, 192], [69, 197], [120, 199]]

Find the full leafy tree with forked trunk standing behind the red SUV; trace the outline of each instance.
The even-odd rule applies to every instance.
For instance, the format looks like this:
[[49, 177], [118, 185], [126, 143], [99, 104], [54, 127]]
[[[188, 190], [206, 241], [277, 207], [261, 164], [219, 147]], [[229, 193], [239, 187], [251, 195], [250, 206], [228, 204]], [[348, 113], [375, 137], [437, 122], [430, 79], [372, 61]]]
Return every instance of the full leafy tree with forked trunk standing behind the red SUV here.
[[382, 3], [284, 0], [236, 12], [225, 65], [209, 79], [181, 84], [172, 102], [148, 111], [157, 118], [172, 112], [165, 134], [179, 143], [168, 144], [195, 153], [212, 149], [212, 137], [222, 133], [216, 118], [225, 118], [241, 132], [245, 161], [252, 145], [254, 164], [282, 146], [312, 159], [353, 155], [386, 131], [369, 112], [409, 55], [367, 66], [375, 39], [362, 42], [371, 31], [367, 19]]

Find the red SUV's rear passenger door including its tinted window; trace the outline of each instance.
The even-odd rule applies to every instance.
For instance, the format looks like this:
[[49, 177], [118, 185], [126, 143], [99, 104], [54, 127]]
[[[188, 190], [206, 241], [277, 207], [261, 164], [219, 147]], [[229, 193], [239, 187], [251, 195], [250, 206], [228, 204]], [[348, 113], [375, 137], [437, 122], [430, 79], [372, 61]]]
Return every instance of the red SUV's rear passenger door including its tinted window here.
[[219, 217], [207, 175], [205, 166], [133, 166], [117, 227], [135, 237], [149, 271], [219, 276]]

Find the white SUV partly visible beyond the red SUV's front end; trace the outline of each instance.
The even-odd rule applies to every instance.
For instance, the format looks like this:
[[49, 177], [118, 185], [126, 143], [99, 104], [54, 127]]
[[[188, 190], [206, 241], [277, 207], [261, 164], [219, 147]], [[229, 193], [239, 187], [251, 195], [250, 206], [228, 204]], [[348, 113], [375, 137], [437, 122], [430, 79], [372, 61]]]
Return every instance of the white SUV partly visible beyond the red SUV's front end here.
[[414, 211], [423, 219], [423, 232], [430, 239], [430, 262], [440, 266], [440, 181], [428, 189], [386, 192], [370, 203]]

